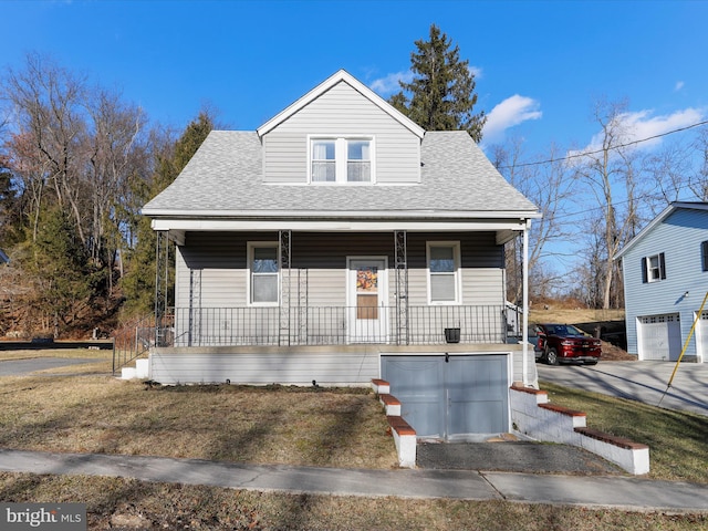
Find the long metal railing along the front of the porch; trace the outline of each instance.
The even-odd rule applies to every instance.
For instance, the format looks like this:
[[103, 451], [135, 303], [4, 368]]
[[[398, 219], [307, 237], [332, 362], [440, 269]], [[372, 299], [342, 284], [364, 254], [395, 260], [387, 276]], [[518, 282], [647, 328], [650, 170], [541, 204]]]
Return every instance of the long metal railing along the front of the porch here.
[[[396, 327], [395, 306], [176, 308], [164, 321], [165, 346], [284, 346], [352, 343], [436, 345], [446, 329], [460, 343], [506, 343], [504, 305], [409, 306]], [[283, 325], [285, 323], [285, 325]]]

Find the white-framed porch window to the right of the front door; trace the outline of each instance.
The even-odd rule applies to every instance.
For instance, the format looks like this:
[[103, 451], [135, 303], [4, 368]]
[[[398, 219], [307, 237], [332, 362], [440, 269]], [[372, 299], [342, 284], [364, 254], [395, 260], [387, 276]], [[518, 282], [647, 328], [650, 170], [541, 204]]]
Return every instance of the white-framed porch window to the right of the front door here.
[[458, 241], [428, 242], [428, 299], [431, 304], [459, 302], [459, 257]]

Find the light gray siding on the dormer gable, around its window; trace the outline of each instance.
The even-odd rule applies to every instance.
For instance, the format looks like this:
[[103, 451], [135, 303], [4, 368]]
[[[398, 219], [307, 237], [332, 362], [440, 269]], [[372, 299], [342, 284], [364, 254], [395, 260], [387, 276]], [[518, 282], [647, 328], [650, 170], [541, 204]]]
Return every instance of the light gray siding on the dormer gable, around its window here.
[[308, 135], [373, 136], [376, 183], [420, 180], [420, 139], [341, 82], [263, 136], [264, 183], [306, 183]]

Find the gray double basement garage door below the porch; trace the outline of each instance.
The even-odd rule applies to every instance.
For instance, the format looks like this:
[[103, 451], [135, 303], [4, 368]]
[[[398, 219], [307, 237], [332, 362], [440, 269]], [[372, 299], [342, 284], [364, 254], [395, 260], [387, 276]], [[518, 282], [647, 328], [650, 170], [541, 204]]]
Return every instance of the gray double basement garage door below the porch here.
[[418, 437], [509, 431], [507, 354], [382, 356], [382, 377]]

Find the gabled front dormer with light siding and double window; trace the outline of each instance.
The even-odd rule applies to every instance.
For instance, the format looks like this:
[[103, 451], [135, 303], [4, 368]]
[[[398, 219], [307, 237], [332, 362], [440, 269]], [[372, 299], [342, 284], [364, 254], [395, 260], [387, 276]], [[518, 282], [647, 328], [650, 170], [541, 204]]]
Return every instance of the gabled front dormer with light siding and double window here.
[[373, 91], [340, 71], [258, 129], [263, 181], [419, 184], [424, 134]]

